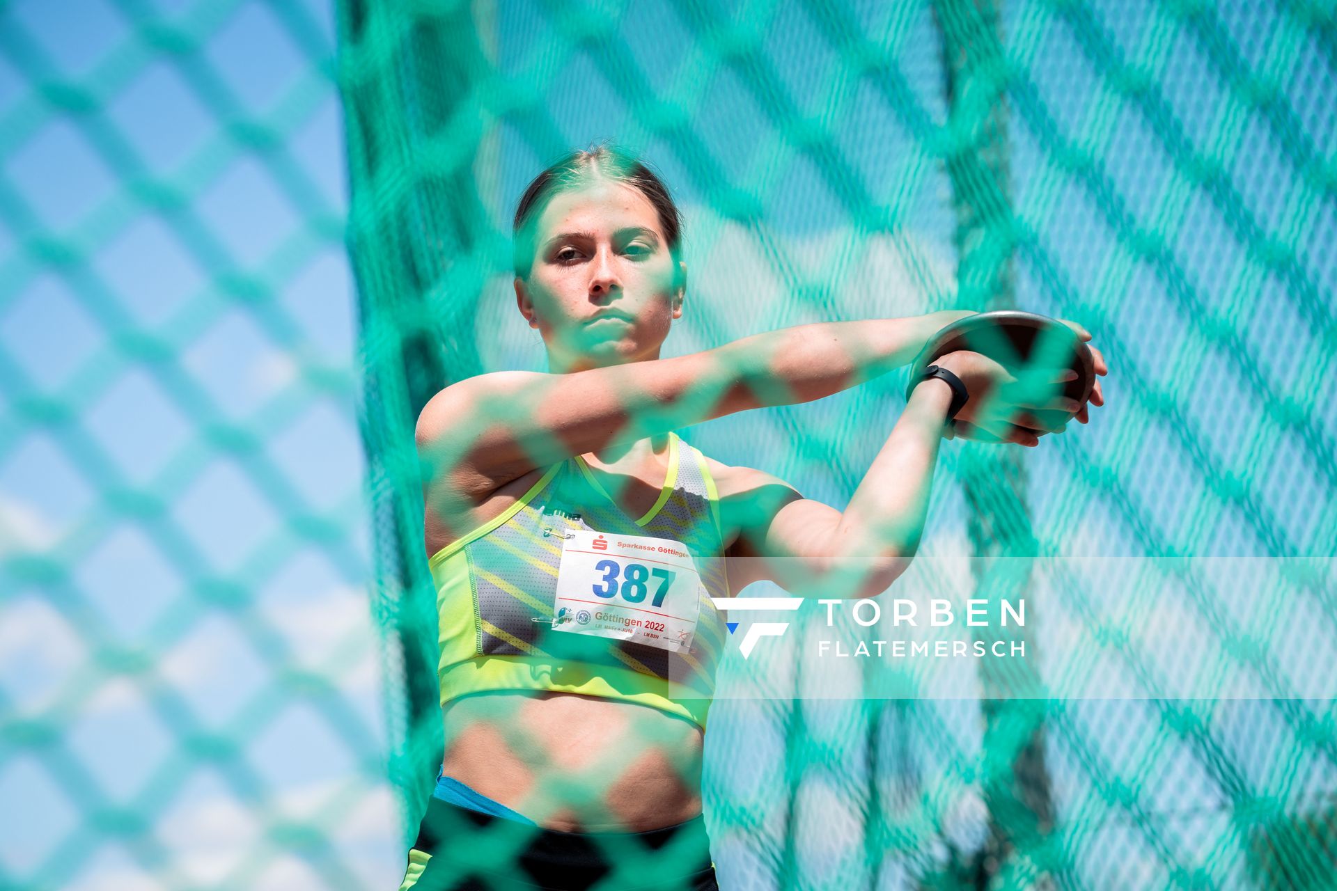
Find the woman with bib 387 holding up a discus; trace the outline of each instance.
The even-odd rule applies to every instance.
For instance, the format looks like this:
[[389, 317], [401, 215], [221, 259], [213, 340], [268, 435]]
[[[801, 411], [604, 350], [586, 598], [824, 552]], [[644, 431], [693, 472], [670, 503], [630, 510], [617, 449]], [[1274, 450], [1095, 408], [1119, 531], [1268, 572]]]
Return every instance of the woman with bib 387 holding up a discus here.
[[[876, 596], [915, 553], [951, 382], [915, 387], [844, 510], [674, 430], [854, 386], [969, 313], [659, 358], [686, 283], [678, 210], [635, 159], [575, 152], [523, 195], [515, 295], [550, 373], [460, 381], [417, 423], [447, 743], [401, 888], [717, 888], [701, 767], [727, 635], [710, 597], [837, 568], [856, 570], [845, 596]], [[936, 365], [971, 394], [957, 435], [1004, 435], [976, 397], [1012, 375], [977, 353]], [[1027, 410], [1059, 406], [1087, 422], [1084, 405], [1016, 402], [1005, 417], [1029, 429], [1007, 438], [1035, 446], [1052, 430]]]

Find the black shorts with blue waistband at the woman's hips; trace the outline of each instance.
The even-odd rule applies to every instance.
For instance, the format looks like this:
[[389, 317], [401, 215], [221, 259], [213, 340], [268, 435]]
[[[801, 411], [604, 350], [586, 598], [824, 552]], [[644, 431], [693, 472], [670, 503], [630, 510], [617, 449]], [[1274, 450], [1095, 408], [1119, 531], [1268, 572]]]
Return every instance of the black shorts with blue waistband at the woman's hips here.
[[558, 832], [428, 799], [400, 891], [718, 891], [701, 815], [650, 832]]

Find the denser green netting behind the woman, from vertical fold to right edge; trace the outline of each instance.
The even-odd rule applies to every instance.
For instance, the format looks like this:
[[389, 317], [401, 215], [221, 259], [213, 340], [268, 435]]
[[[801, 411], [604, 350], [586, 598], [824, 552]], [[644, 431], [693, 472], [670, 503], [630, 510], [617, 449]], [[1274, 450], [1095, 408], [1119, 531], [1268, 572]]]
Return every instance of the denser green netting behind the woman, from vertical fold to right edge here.
[[[448, 383], [547, 370], [511, 216], [544, 166], [612, 139], [686, 218], [666, 355], [1019, 307], [1082, 322], [1111, 367], [1087, 427], [944, 446], [893, 586], [1028, 597], [1027, 659], [820, 661], [818, 610], [730, 649], [703, 783], [725, 887], [1330, 880], [1330, 4], [340, 9], [406, 843], [443, 745], [414, 419]], [[844, 506], [902, 393], [893, 373], [683, 435]]]

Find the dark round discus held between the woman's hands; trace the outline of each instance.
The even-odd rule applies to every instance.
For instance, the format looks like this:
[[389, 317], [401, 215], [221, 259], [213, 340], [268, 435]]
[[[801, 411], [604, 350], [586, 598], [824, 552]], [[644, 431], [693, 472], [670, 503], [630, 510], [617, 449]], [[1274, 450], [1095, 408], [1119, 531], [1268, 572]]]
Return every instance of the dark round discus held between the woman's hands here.
[[[935, 359], [955, 353], [971, 350], [981, 353], [1013, 375], [1028, 369], [1071, 369], [1078, 373], [1072, 381], [1046, 385], [1047, 393], [1039, 393], [1047, 399], [1068, 397], [1078, 406], [1086, 403], [1095, 387], [1095, 358], [1091, 349], [1082, 342], [1078, 333], [1058, 319], [1020, 310], [996, 310], [967, 315], [945, 326], [924, 345], [910, 365], [910, 379], [905, 386], [905, 398], [910, 398], [924, 369]], [[1024, 409], [1046, 426], [1056, 427], [1076, 417], [1078, 409]], [[956, 422], [952, 421], [952, 430]], [[1011, 425], [1012, 431], [1027, 431], [1028, 427]], [[981, 430], [983, 433], [983, 430]], [[979, 438], [979, 437], [976, 437]]]

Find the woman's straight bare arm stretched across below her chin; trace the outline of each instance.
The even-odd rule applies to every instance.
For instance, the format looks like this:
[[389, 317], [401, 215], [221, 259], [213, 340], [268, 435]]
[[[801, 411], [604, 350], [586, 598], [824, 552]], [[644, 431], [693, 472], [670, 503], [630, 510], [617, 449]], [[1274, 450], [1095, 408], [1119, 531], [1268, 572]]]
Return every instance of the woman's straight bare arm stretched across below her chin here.
[[437, 393], [417, 422], [433, 494], [483, 497], [535, 468], [721, 415], [809, 402], [909, 363], [967, 311], [817, 322], [691, 355], [571, 374], [497, 371]]

